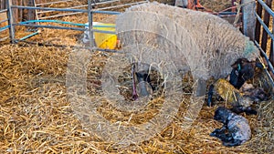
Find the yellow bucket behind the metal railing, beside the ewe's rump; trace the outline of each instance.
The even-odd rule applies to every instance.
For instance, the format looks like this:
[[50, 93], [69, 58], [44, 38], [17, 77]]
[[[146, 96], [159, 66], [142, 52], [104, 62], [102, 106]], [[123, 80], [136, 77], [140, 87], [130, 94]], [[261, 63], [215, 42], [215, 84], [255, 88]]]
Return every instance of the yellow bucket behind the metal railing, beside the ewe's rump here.
[[[108, 26], [108, 27], [104, 27]], [[115, 24], [93, 23], [93, 29], [115, 32]], [[100, 48], [114, 49], [116, 47], [117, 36], [94, 32], [95, 43]]]

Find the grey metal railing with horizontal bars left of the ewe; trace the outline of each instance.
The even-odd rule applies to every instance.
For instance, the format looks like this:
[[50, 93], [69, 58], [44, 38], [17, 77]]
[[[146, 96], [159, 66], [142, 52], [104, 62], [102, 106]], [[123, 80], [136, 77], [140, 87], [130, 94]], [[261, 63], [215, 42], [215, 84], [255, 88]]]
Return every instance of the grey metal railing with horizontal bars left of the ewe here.
[[[70, 2], [70, 0], [59, 0], [56, 2], [53, 2], [55, 4], [58, 3], [65, 3], [65, 2]], [[29, 38], [31, 36], [35, 36], [37, 34], [39, 34], [39, 30], [33, 34], [30, 34], [28, 36], [23, 36], [21, 38], [16, 38], [16, 26], [27, 26], [27, 27], [38, 27], [38, 28], [53, 28], [53, 29], [67, 29], [67, 30], [77, 30], [77, 31], [86, 31], [87, 25], [85, 24], [76, 24], [76, 23], [69, 23], [69, 22], [62, 22], [59, 20], [41, 20], [44, 18], [51, 18], [51, 17], [59, 17], [59, 16], [64, 16], [64, 15], [75, 15], [75, 14], [88, 14], [89, 17], [89, 29], [91, 29], [89, 31], [89, 42], [90, 42], [90, 46], [92, 46], [93, 48], [96, 48], [97, 50], [100, 51], [109, 51], [108, 49], [102, 49], [102, 48], [98, 48], [96, 46], [93, 46], [94, 43], [94, 38], [93, 38], [93, 33], [97, 32], [97, 33], [107, 33], [107, 34], [116, 34], [113, 31], [105, 31], [105, 30], [99, 30], [99, 29], [93, 29], [92, 26], [92, 21], [93, 21], [93, 14], [107, 14], [107, 15], [119, 15], [120, 12], [115, 12], [115, 11], [103, 11], [103, 10], [107, 10], [107, 9], [111, 9], [111, 8], [118, 8], [121, 6], [127, 6], [127, 5], [136, 5], [136, 4], [141, 4], [141, 3], [145, 3], [148, 2], [146, 1], [139, 1], [139, 2], [134, 2], [131, 3], [129, 2], [128, 4], [123, 4], [123, 5], [114, 5], [114, 6], [107, 6], [107, 7], [101, 7], [98, 9], [92, 9], [93, 5], [99, 5], [99, 4], [109, 4], [112, 2], [120, 2], [120, 0], [110, 0], [110, 1], [104, 1], [104, 2], [100, 2], [100, 3], [93, 3], [94, 1], [92, 0], [88, 0], [88, 5], [79, 5], [79, 6], [72, 6], [72, 7], [67, 7], [67, 8], [53, 8], [53, 7], [43, 7], [43, 5], [49, 5], [52, 3], [44, 3], [44, 4], [36, 4], [36, 0], [29, 0], [29, 4], [31, 6], [26, 6], [26, 5], [13, 5], [12, 4], [12, 0], [6, 0], [6, 9], [3, 10], [7, 13], [7, 19], [5, 21], [8, 21], [8, 26], [5, 27], [0, 27], [0, 32], [1, 31], [5, 31], [6, 29], [9, 29], [9, 38], [10, 38], [10, 42], [11, 43], [18, 43], [20, 41], [25, 41], [26, 42], [26, 38]], [[78, 9], [82, 6], [87, 6], [88, 8], [85, 9]], [[14, 16], [13, 15], [13, 11], [15, 9], [26, 9], [26, 10], [34, 10], [33, 16], [34, 18], [37, 18], [37, 20], [28, 20], [26, 22], [19, 22], [16, 23], [14, 20]], [[47, 13], [47, 12], [68, 12], [68, 14], [60, 14], [60, 15], [50, 15], [50, 16], [44, 16], [44, 17], [38, 17], [37, 15], [37, 11], [40, 11], [40, 13]], [[3, 22], [5, 22], [3, 21]], [[39, 25], [39, 23], [41, 22], [54, 22], [54, 23], [58, 23], [58, 24], [67, 24], [67, 25], [72, 25], [72, 26], [50, 26], [50, 25]], [[28, 42], [28, 43], [35, 43], [35, 42]], [[36, 43], [39, 44], [39, 43]], [[56, 46], [56, 45], [54, 45]], [[57, 45], [58, 46], [58, 45]], [[110, 50], [110, 52], [114, 52], [114, 50]]]

